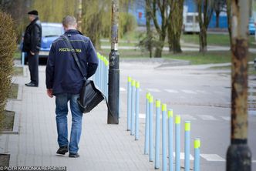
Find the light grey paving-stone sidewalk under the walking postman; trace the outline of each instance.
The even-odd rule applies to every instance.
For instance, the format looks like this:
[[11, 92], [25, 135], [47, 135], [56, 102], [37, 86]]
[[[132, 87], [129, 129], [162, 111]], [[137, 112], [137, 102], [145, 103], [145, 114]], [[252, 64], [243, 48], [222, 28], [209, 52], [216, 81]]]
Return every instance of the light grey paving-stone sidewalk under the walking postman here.
[[[10, 100], [6, 108], [19, 112], [19, 134], [0, 136], [0, 153], [11, 154], [10, 166], [66, 166], [69, 171], [153, 170], [153, 163], [143, 155], [143, 137], [135, 141], [126, 131], [126, 107], [121, 106], [120, 124], [108, 125], [105, 102], [83, 116], [80, 157], [56, 156], [55, 98], [45, 93], [45, 66], [39, 67], [39, 79], [39, 88], [24, 86], [29, 82], [27, 67], [25, 76], [13, 78], [22, 95]], [[123, 102], [125, 94], [121, 94]], [[69, 112], [69, 132], [70, 121]]]

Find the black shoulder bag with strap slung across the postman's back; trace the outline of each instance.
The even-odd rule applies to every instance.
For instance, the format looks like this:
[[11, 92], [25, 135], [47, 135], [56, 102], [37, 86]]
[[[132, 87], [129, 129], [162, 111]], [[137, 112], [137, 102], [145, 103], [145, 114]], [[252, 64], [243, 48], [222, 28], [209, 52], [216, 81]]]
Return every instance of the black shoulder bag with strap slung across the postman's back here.
[[[99, 91], [99, 89], [96, 88], [94, 85], [93, 80], [86, 79], [86, 76], [83, 74], [83, 69], [80, 65], [80, 62], [77, 58], [76, 52], [74, 47], [72, 46], [71, 42], [69, 41], [69, 38], [66, 37], [66, 35], [62, 35], [62, 38], [66, 40], [66, 43], [68, 44], [68, 47], [70, 51], [72, 52], [72, 56], [74, 57], [76, 64], [79, 68], [79, 71], [83, 75], [83, 79], [85, 80], [83, 89], [81, 90], [79, 94], [79, 99], [77, 99], [77, 102], [79, 104], [80, 109], [86, 113], [90, 112], [94, 107], [96, 107], [99, 102], [103, 101], [103, 99], [106, 99], [106, 97], [103, 95], [102, 92]], [[108, 106], [108, 103], [106, 101], [106, 104]], [[108, 106], [109, 108], [109, 106]]]

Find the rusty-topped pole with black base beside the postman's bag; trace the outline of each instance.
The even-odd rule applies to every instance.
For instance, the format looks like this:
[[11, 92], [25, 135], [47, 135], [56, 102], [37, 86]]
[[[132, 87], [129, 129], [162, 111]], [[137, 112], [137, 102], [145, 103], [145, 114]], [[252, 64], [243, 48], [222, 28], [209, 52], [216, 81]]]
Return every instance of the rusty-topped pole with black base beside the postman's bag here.
[[108, 124], [119, 123], [120, 69], [118, 52], [118, 0], [112, 0], [111, 52], [109, 53]]

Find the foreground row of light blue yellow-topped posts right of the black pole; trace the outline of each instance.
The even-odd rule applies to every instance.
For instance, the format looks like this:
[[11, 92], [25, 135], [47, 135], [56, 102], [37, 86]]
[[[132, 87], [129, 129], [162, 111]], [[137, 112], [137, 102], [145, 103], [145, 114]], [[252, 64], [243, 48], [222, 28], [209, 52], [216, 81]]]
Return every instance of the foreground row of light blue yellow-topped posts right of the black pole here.
[[[128, 77], [127, 83], [127, 131], [135, 135], [139, 140], [139, 112], [140, 112], [140, 82]], [[162, 112], [162, 115], [161, 115]], [[146, 96], [146, 124], [144, 154], [149, 155], [150, 162], [154, 162], [154, 168], [160, 169], [160, 116], [162, 116], [162, 170], [167, 170], [167, 158], [169, 159], [169, 170], [180, 171], [180, 116], [175, 116], [175, 161], [173, 159], [173, 109], [167, 110], [167, 104], [162, 104], [156, 99], [155, 119], [155, 146], [153, 146], [153, 96], [147, 92]], [[168, 126], [167, 126], [168, 119]], [[167, 132], [168, 130], [168, 132]], [[184, 170], [190, 170], [190, 121], [184, 123]], [[168, 143], [167, 143], [168, 135]], [[155, 147], [153, 149], [153, 147]], [[167, 157], [167, 148], [168, 154]], [[200, 139], [194, 139], [194, 170], [200, 170]]]

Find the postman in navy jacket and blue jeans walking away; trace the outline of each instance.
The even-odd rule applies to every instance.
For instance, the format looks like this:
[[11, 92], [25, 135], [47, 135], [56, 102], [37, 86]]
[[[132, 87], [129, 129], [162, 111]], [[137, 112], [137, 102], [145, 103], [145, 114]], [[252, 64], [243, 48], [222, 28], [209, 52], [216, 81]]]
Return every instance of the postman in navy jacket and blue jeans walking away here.
[[[91, 40], [76, 30], [76, 18], [66, 16], [62, 24], [65, 35], [75, 49], [84, 75], [88, 79], [97, 69], [98, 59]], [[82, 132], [83, 112], [79, 109], [77, 99], [83, 87], [83, 75], [79, 72], [76, 61], [67, 42], [59, 37], [52, 42], [46, 65], [46, 88], [49, 97], [56, 96], [56, 125], [59, 149], [57, 154], [79, 157], [79, 139]], [[72, 113], [72, 127], [68, 140], [68, 102]]]

